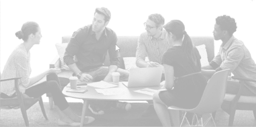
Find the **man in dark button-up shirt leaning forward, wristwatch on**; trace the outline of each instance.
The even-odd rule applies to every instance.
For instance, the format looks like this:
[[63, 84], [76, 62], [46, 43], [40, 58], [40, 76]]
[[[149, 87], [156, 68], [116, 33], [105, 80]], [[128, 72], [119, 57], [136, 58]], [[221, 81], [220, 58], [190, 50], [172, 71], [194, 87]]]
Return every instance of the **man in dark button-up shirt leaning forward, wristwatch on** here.
[[[119, 72], [121, 81], [128, 81], [129, 72], [118, 68], [119, 52], [115, 50], [117, 36], [113, 30], [106, 28], [110, 21], [110, 11], [107, 8], [96, 8], [91, 25], [84, 26], [73, 33], [64, 55], [64, 62], [74, 72], [79, 80], [85, 82], [101, 79], [106, 82], [112, 81], [112, 73]], [[103, 66], [107, 51], [110, 55], [110, 66]], [[76, 55], [77, 62], [73, 60]], [[91, 102], [89, 109], [94, 114], [103, 114], [97, 110], [97, 106], [103, 108], [109, 104], [116, 108], [130, 109], [129, 103], [122, 102]], [[104, 106], [103, 106], [104, 105]], [[109, 106], [108, 106], [109, 107]]]

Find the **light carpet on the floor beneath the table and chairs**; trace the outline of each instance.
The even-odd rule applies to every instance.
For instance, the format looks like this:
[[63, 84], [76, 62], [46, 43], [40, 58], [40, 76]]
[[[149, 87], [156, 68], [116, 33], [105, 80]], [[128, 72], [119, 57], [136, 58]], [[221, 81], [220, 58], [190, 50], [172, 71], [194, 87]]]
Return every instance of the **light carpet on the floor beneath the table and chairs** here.
[[[82, 114], [82, 103], [81, 102], [69, 102], [70, 108], [74, 110], [76, 114], [81, 116]], [[52, 110], [49, 109], [49, 103], [44, 102], [45, 112], [49, 120], [45, 120], [42, 115], [39, 103], [36, 103], [31, 108], [27, 110], [28, 121], [30, 126], [33, 127], [56, 127], [58, 126], [58, 118], [56, 112], [56, 106]], [[141, 117], [141, 114], [149, 105], [147, 103], [132, 103], [132, 108], [128, 112], [110, 108], [105, 111], [104, 115], [98, 116], [88, 112], [87, 116], [93, 116], [96, 120], [88, 125], [90, 127], [156, 127], [162, 126], [158, 116]], [[206, 119], [206, 115], [203, 116]], [[217, 126], [228, 126], [229, 115], [223, 110], [218, 110], [215, 122]], [[182, 120], [182, 112], [180, 112], [180, 121]], [[12, 127], [12, 126], [25, 126], [20, 109], [12, 110], [0, 110], [0, 126], [1, 127]], [[183, 124], [183, 126], [188, 126], [188, 124]], [[208, 125], [214, 126], [212, 121], [209, 121]], [[254, 120], [252, 111], [237, 110], [233, 127], [256, 127], [256, 121]]]

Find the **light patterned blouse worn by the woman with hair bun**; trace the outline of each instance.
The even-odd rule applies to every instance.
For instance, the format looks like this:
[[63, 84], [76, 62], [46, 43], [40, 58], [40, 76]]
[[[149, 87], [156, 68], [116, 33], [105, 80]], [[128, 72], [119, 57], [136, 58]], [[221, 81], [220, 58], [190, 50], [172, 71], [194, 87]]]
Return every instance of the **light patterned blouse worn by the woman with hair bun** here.
[[[20, 90], [27, 88], [31, 74], [30, 52], [25, 49], [22, 43], [11, 53], [3, 69], [2, 79], [12, 77], [22, 77], [18, 80]], [[14, 80], [0, 82], [0, 92], [11, 96], [15, 93]]]

